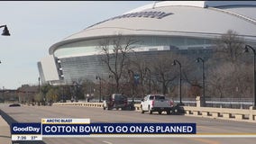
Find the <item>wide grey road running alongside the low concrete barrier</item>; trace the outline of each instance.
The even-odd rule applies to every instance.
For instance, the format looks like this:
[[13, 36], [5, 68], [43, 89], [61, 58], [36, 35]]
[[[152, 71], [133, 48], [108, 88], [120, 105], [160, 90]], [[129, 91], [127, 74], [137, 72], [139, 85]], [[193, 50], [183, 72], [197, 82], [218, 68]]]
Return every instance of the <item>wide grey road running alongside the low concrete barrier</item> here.
[[196, 122], [197, 134], [223, 135], [222, 138], [43, 138], [47, 144], [132, 144], [132, 143], [182, 143], [182, 144], [222, 144], [254, 143], [254, 138], [224, 138], [226, 134], [234, 137], [244, 134], [256, 135], [256, 123], [242, 121], [224, 121], [198, 118], [184, 115], [159, 115], [133, 111], [104, 111], [99, 108], [75, 106], [0, 106], [0, 109], [19, 122], [41, 122], [41, 118], [89, 118], [91, 122]]

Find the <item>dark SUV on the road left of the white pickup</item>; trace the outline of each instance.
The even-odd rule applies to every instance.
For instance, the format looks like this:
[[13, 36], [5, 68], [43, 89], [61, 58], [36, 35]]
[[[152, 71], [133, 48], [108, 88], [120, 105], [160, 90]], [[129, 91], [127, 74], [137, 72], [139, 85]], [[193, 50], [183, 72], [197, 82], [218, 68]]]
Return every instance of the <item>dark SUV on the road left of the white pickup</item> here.
[[128, 103], [127, 96], [123, 94], [112, 94], [111, 96], [105, 96], [103, 101], [103, 109], [107, 110], [134, 110], [133, 103]]

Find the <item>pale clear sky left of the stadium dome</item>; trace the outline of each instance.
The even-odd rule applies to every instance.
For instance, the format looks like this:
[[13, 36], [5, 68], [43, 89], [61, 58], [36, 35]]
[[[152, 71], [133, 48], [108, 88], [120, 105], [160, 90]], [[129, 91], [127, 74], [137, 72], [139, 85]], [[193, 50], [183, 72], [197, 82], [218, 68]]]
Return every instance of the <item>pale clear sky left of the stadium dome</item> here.
[[[0, 89], [38, 85], [37, 62], [51, 45], [94, 23], [153, 1], [0, 1]], [[0, 34], [4, 29], [0, 29]]]

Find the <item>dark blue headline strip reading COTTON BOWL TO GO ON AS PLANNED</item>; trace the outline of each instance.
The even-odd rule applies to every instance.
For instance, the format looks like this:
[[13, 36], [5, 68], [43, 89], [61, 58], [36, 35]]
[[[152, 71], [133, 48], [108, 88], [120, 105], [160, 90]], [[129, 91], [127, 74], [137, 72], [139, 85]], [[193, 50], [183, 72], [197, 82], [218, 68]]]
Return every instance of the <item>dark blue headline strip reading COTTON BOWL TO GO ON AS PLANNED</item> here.
[[42, 124], [42, 135], [196, 134], [196, 123]]

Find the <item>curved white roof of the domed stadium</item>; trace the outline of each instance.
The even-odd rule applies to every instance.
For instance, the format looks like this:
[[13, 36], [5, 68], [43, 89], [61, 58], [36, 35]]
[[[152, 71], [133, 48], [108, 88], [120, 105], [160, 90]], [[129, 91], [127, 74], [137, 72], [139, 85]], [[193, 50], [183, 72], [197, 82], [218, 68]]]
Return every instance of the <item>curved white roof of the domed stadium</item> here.
[[187, 36], [213, 39], [228, 30], [245, 40], [256, 40], [255, 1], [167, 1], [155, 2], [96, 23], [53, 44], [59, 46], [79, 40], [128, 36]]

